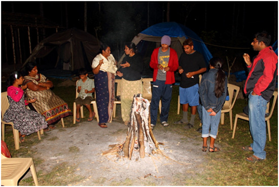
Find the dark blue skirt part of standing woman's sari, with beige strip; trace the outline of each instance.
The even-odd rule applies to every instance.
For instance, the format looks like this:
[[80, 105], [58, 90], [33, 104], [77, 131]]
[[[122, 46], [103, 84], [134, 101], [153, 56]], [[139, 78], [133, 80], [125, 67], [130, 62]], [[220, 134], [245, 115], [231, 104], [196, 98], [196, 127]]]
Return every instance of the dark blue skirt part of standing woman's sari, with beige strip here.
[[109, 122], [113, 114], [115, 75], [99, 71], [95, 75], [96, 103], [99, 123]]

